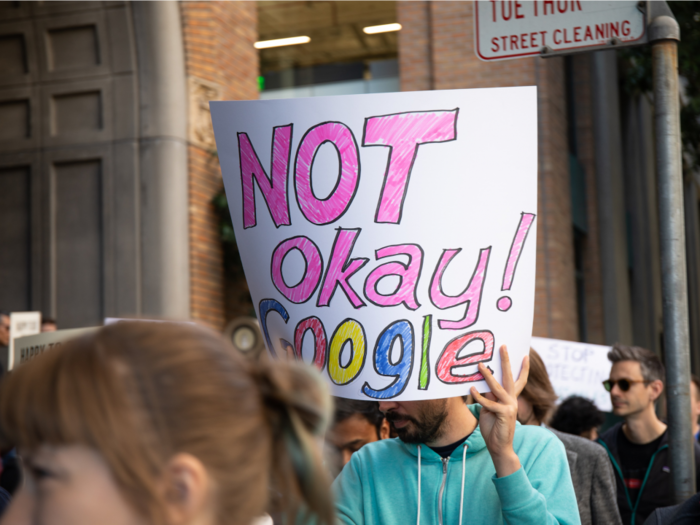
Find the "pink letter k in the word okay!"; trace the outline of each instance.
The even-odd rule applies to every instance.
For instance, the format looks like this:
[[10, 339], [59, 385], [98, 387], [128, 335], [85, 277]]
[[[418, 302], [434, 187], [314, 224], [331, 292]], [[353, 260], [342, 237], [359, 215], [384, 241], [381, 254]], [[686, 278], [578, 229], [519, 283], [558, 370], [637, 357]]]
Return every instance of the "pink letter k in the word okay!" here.
[[343, 289], [348, 300], [355, 308], [367, 306], [348, 282], [348, 279], [369, 261], [369, 259], [364, 257], [350, 259], [352, 247], [355, 245], [358, 235], [360, 235], [359, 228], [350, 230], [338, 228], [338, 234], [333, 242], [331, 258], [328, 261], [328, 269], [326, 269], [326, 276], [323, 278], [323, 285], [321, 286], [321, 293], [318, 294], [316, 306], [328, 306], [338, 285]]

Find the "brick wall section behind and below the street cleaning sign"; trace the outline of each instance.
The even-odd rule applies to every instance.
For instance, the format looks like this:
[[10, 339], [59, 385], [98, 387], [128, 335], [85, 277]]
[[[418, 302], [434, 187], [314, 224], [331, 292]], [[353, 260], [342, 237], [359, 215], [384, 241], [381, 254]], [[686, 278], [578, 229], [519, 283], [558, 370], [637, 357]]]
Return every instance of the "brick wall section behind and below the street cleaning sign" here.
[[397, 0], [401, 89], [537, 85], [539, 205], [534, 334], [578, 340], [563, 60], [486, 63], [474, 53], [473, 3]]

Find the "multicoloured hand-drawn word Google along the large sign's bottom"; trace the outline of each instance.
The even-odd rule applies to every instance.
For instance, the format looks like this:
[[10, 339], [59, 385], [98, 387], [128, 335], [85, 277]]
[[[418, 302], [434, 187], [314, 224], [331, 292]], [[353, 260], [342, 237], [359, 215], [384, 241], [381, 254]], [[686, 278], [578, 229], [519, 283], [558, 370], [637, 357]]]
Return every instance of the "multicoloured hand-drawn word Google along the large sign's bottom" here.
[[[262, 327], [268, 348], [274, 354], [274, 346], [267, 327], [267, 317], [276, 312], [285, 324], [290, 320], [287, 309], [275, 299], [263, 299], [258, 305], [260, 325]], [[422, 331], [422, 353], [419, 366], [419, 390], [427, 390], [430, 384], [430, 340], [432, 316], [424, 318]], [[321, 319], [316, 316], [299, 321], [294, 329], [294, 344], [280, 340], [280, 344], [292, 346], [297, 359], [302, 359], [302, 344], [304, 337], [310, 333], [313, 337], [314, 354], [311, 362], [321, 371], [326, 370], [330, 380], [336, 385], [352, 383], [362, 372], [367, 360], [367, 336], [362, 324], [355, 319], [345, 319], [334, 330], [330, 341]], [[387, 326], [377, 338], [372, 351], [372, 362], [375, 372], [392, 381], [383, 388], [375, 389], [365, 382], [361, 392], [372, 399], [391, 399], [400, 395], [411, 378], [415, 353], [416, 335], [413, 324], [400, 319]], [[399, 357], [392, 360], [394, 343], [400, 344]], [[476, 343], [476, 351], [465, 353], [464, 349]], [[350, 353], [346, 363], [342, 363], [343, 349]], [[435, 375], [446, 384], [463, 384], [483, 380], [480, 372], [468, 375], [457, 374], [457, 371], [477, 363], [488, 362], [493, 358], [495, 339], [489, 330], [479, 330], [460, 335], [452, 339], [442, 350], [435, 363]]]

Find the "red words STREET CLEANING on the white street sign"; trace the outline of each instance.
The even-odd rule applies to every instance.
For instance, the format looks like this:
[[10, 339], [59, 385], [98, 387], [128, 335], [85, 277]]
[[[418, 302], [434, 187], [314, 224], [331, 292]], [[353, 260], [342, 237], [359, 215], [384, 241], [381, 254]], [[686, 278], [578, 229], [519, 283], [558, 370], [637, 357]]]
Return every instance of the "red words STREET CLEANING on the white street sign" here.
[[491, 51], [523, 51], [526, 49], [541, 49], [553, 42], [556, 45], [601, 42], [614, 37], [628, 37], [632, 34], [629, 20], [622, 22], [605, 22], [595, 25], [575, 26], [555, 29], [551, 34], [551, 42], [547, 41], [548, 31], [534, 31], [503, 35], [491, 39]]

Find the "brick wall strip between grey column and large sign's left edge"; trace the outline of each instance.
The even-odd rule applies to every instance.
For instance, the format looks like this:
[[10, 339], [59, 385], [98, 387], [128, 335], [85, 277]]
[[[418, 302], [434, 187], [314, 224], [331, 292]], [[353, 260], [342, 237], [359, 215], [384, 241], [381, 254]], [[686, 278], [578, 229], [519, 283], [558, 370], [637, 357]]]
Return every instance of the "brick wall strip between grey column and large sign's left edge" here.
[[191, 316], [216, 329], [225, 314], [218, 219], [211, 204], [221, 171], [207, 101], [257, 98], [257, 4], [253, 0], [181, 0], [189, 89]]

